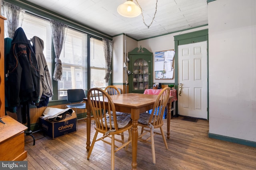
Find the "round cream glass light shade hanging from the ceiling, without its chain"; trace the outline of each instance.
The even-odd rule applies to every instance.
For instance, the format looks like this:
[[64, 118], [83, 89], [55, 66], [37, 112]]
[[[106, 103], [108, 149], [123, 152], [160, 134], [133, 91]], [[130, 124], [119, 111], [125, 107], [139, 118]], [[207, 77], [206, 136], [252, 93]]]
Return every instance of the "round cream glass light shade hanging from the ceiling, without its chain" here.
[[124, 17], [132, 18], [141, 14], [140, 7], [138, 7], [132, 0], [127, 0], [124, 4], [117, 7], [117, 12]]

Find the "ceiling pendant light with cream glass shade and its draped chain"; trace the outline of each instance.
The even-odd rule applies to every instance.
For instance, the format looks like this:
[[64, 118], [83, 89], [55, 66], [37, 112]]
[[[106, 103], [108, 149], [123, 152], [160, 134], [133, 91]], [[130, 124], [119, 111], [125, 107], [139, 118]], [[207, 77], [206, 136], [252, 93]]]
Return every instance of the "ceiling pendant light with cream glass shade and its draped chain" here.
[[132, 0], [127, 0], [126, 2], [124, 2], [124, 4], [121, 4], [117, 7], [117, 12], [121, 16], [128, 17], [128, 18], [136, 17], [136, 16], [139, 16], [141, 14], [144, 25], [146, 25], [146, 27], [149, 28], [150, 25], [152, 25], [152, 23], [153, 23], [153, 21], [156, 17], [158, 0], [156, 0], [156, 11], [155, 11], [154, 17], [153, 17], [153, 19], [152, 19], [152, 21], [149, 25], [147, 25], [145, 23], [144, 15], [142, 13], [142, 8], [141, 8], [140, 4], [138, 3], [138, 0], [136, 0], [136, 2], [138, 4], [138, 6]]

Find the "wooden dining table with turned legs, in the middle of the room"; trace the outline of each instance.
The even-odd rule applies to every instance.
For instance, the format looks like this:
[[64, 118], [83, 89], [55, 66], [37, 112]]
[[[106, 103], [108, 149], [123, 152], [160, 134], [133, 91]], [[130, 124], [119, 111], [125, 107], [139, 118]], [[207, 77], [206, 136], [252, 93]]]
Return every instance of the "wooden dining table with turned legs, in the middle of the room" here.
[[[137, 145], [138, 145], [138, 119], [140, 113], [148, 111], [153, 108], [154, 102], [156, 101], [157, 95], [151, 94], [137, 94], [137, 93], [127, 93], [120, 95], [111, 96], [116, 111], [130, 113], [132, 119], [132, 170], [137, 169]], [[169, 97], [167, 104], [167, 139], [170, 138], [170, 118], [171, 118], [171, 99], [173, 96]], [[88, 99], [84, 98], [86, 102], [87, 109], [87, 123], [86, 123], [86, 150], [90, 149], [90, 132], [91, 132], [91, 109], [88, 104]]]

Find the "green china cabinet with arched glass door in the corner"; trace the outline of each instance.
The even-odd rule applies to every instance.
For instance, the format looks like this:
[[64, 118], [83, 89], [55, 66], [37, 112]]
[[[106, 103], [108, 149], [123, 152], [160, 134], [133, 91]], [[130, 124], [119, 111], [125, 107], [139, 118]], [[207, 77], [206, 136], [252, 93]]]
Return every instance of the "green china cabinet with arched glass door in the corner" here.
[[146, 48], [137, 47], [128, 53], [130, 59], [129, 93], [144, 93], [145, 89], [152, 88], [152, 60], [153, 53]]

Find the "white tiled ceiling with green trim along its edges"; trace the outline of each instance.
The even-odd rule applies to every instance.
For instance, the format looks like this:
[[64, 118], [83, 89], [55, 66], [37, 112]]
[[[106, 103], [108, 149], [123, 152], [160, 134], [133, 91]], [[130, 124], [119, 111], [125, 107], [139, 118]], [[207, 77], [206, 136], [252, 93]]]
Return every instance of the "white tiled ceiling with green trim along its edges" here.
[[[147, 28], [142, 16], [126, 18], [116, 8], [126, 0], [27, 0], [33, 4], [78, 21], [110, 36], [126, 33], [146, 39], [208, 24], [207, 0], [158, 0], [156, 17]], [[136, 0], [133, 0], [136, 4]], [[156, 0], [138, 0], [144, 20], [149, 25], [156, 9]]]

